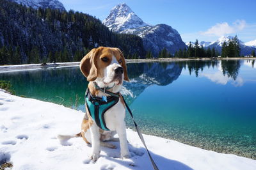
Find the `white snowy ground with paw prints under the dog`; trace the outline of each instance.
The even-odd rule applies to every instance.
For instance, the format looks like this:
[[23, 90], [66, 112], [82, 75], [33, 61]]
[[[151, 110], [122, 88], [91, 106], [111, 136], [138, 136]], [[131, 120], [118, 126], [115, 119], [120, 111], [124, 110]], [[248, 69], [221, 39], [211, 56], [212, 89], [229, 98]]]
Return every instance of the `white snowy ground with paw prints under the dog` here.
[[[127, 130], [132, 157], [120, 159], [117, 149], [102, 148], [95, 164], [83, 139], [59, 141], [58, 134], [79, 132], [83, 112], [0, 89], [0, 164], [13, 169], [152, 169], [136, 132]], [[256, 160], [202, 150], [161, 137], [144, 135], [159, 169], [256, 169]]]

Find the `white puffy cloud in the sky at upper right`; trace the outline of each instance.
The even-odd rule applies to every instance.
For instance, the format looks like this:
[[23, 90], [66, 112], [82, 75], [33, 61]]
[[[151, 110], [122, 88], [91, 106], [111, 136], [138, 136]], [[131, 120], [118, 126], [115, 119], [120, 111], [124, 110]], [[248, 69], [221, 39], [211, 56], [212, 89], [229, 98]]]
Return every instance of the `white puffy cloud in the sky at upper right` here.
[[202, 35], [210, 35], [210, 36], [223, 36], [229, 35], [232, 33], [236, 33], [237, 31], [241, 31], [246, 27], [245, 20], [236, 20], [229, 25], [227, 22], [217, 23], [215, 26], [212, 26], [207, 31], [201, 32]]

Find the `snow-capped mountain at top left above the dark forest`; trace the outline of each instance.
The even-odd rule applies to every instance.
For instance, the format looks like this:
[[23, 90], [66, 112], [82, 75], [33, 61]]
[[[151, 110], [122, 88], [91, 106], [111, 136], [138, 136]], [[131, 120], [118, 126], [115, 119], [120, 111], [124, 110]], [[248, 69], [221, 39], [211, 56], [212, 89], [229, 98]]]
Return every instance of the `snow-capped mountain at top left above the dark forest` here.
[[21, 3], [32, 8], [52, 8], [65, 10], [63, 4], [58, 0], [11, 0], [16, 3]]

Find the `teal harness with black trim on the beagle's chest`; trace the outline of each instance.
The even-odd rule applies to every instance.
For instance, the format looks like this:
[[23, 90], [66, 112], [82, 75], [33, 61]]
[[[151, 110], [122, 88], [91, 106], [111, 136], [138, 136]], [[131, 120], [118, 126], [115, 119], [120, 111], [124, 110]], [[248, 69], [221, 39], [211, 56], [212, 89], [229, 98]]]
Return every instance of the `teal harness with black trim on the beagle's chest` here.
[[119, 95], [118, 97], [93, 97], [89, 89], [86, 89], [84, 98], [89, 114], [98, 125], [98, 127], [102, 130], [109, 130], [109, 128], [106, 126], [104, 114], [106, 113], [106, 111], [108, 111], [108, 109], [113, 107], [113, 105], [118, 102]]

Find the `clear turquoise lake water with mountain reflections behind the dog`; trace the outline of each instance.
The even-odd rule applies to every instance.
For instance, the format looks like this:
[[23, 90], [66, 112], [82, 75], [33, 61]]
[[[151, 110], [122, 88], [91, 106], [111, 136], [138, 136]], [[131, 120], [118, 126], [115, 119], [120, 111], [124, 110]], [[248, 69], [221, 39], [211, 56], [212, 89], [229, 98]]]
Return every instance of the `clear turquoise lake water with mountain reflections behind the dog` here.
[[[254, 62], [130, 63], [122, 93], [145, 134], [256, 159]], [[88, 82], [79, 67], [0, 73], [0, 80], [16, 95], [84, 111]]]

